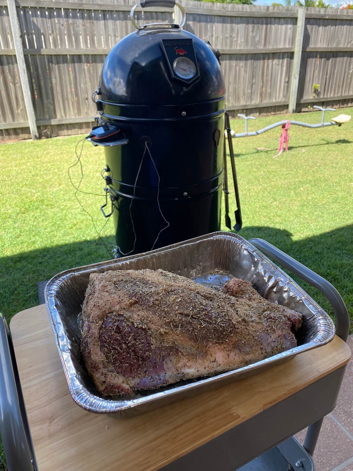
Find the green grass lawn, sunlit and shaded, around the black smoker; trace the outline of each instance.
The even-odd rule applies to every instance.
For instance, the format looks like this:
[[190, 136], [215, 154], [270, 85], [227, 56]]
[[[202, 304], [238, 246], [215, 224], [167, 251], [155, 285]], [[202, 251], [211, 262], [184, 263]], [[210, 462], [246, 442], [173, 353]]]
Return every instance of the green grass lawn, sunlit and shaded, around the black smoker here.
[[[343, 112], [353, 114], [353, 108]], [[339, 113], [328, 112], [327, 121]], [[257, 118], [249, 122], [249, 130], [281, 119], [285, 116]], [[321, 113], [288, 119], [318, 122]], [[233, 120], [232, 127], [242, 132], [244, 122]], [[276, 159], [273, 155], [281, 128], [253, 138], [233, 139], [243, 216], [240, 235], [262, 237], [327, 278], [343, 296], [351, 319], [352, 130], [352, 123], [316, 130], [292, 126], [289, 152]], [[74, 136], [0, 146], [0, 310], [8, 321], [16, 312], [38, 304], [38, 281], [65, 268], [111, 258], [103, 245], [95, 244], [92, 221], [75, 200], [67, 176], [68, 167], [76, 160], [78, 140]], [[103, 193], [100, 172], [104, 164], [102, 149], [86, 143], [81, 189]], [[78, 166], [72, 175], [77, 183]], [[100, 229], [105, 222], [100, 211], [103, 197], [79, 198]], [[231, 210], [234, 216], [233, 195]], [[223, 214], [222, 229], [226, 230]], [[102, 235], [106, 244], [114, 243], [112, 221]], [[304, 282], [299, 284], [331, 313], [321, 293]]]

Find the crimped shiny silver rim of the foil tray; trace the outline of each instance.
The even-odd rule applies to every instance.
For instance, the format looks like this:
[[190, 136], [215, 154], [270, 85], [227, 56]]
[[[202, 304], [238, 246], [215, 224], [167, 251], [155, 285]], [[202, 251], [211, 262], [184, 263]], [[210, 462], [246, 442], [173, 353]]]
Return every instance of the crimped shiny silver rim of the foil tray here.
[[[251, 253], [257, 259], [261, 260], [264, 264], [264, 267], [268, 270], [269, 279], [276, 276], [273, 280], [274, 289], [276, 289], [277, 286], [282, 287], [283, 290], [293, 290], [294, 288], [294, 290], [299, 295], [299, 298], [305, 300], [308, 303], [308, 306], [313, 312], [313, 315], [317, 314], [325, 319], [325, 329], [322, 329], [322, 332], [317, 334], [311, 341], [304, 343], [303, 345], [299, 345], [293, 349], [286, 350], [272, 357], [265, 358], [264, 360], [258, 361], [256, 363], [243, 366], [236, 370], [228, 371], [222, 374], [217, 374], [215, 376], [201, 378], [195, 382], [189, 382], [181, 386], [179, 385], [169, 390], [154, 390], [151, 394], [139, 398], [124, 400], [101, 398], [89, 392], [87, 388], [85, 388], [85, 386], [80, 383], [79, 379], [77, 378], [77, 375], [70, 374], [69, 367], [75, 370], [75, 366], [73, 364], [72, 352], [68, 345], [67, 336], [65, 335], [64, 327], [60, 318], [60, 313], [56, 308], [55, 297], [57, 292], [57, 284], [60, 284], [62, 281], [66, 280], [68, 276], [75, 276], [76, 273], [101, 271], [102, 268], [107, 269], [107, 267], [109, 266], [113, 267], [117, 264], [121, 264], [122, 262], [143, 259], [146, 256], [151, 256], [153, 254], [162, 254], [163, 252], [169, 252], [178, 247], [193, 245], [201, 241], [207, 241], [208, 239], [215, 239], [218, 237], [221, 237], [222, 239], [230, 239], [231, 241], [241, 243], [249, 251], [249, 253]], [[267, 281], [267, 283], [271, 283], [271, 281]], [[304, 351], [308, 351], [325, 345], [332, 341], [335, 336], [335, 326], [329, 315], [289, 275], [287, 275], [281, 268], [277, 267], [271, 260], [269, 260], [261, 251], [259, 251], [256, 247], [250, 244], [246, 239], [244, 239], [240, 235], [229, 232], [214, 232], [208, 235], [203, 235], [194, 239], [190, 239], [188, 241], [180, 242], [178, 244], [173, 244], [168, 247], [162, 247], [152, 252], [140, 253], [132, 257], [126, 256], [121, 259], [106, 260], [104, 262], [97, 262], [91, 265], [64, 270], [58, 273], [57, 275], [53, 276], [48, 281], [45, 287], [44, 294], [50, 324], [55, 337], [56, 347], [58, 349], [59, 357], [63, 365], [64, 374], [69, 386], [72, 399], [76, 402], [76, 404], [78, 404], [85, 410], [97, 414], [117, 414], [119, 412], [135, 408], [137, 406], [156, 403], [162, 397], [171, 398], [176, 396], [177, 394], [186, 392], [188, 390], [197, 390], [201, 386], [205, 386], [207, 384], [214, 384], [216, 382], [222, 383], [225, 380], [236, 377], [242, 373], [248, 373], [256, 370], [259, 370], [260, 372], [261, 367], [264, 367], [265, 365], [278, 363], [279, 360], [288, 360], [292, 357], [295, 357], [298, 353], [302, 353]]]

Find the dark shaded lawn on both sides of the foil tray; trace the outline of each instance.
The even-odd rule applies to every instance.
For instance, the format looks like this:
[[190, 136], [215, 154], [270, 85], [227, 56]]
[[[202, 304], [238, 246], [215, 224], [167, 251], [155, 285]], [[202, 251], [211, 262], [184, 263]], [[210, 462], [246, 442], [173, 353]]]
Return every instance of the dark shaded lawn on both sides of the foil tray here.
[[[313, 271], [329, 280], [340, 292], [353, 315], [353, 225], [340, 227], [299, 241], [274, 227], [244, 227], [240, 235], [249, 239], [261, 237], [287, 252]], [[104, 238], [112, 243], [112, 239]], [[94, 241], [58, 245], [24, 252], [0, 259], [0, 310], [7, 320], [23, 309], [38, 304], [37, 283], [67, 268], [108, 260], [109, 253]], [[293, 278], [331, 313], [329, 303], [315, 288], [299, 278]]]

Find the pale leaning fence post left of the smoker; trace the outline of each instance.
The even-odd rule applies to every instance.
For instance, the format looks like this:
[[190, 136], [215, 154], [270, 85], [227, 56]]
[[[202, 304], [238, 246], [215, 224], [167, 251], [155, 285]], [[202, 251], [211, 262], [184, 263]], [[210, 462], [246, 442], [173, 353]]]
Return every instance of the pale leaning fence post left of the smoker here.
[[27, 68], [24, 62], [22, 38], [21, 38], [20, 26], [18, 24], [16, 4], [15, 4], [15, 0], [7, 0], [7, 3], [8, 3], [8, 16], [10, 18], [12, 37], [14, 39], [14, 44], [15, 44], [18, 72], [20, 75], [22, 91], [24, 95], [24, 104], [27, 110], [29, 127], [31, 130], [32, 139], [38, 139], [36, 116], [34, 113], [32, 94], [31, 94], [31, 89], [29, 86], [28, 75], [27, 75]]

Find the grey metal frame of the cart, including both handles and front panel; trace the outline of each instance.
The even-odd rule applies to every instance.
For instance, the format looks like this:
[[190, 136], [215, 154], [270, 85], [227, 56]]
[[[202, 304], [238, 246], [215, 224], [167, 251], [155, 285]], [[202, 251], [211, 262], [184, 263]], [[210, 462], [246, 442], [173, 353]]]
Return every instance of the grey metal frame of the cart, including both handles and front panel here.
[[[348, 311], [332, 284], [268, 242], [257, 238], [250, 239], [249, 242], [324, 294], [335, 314], [336, 334], [346, 341], [349, 333]], [[33, 452], [15, 352], [6, 320], [1, 314], [0, 316], [2, 319], [0, 320], [0, 431], [8, 470], [33, 471], [38, 469], [38, 466]], [[344, 373], [345, 366], [170, 463], [163, 470], [231, 471], [239, 469], [266, 450], [269, 450], [266, 457], [270, 459], [269, 454], [276, 448], [293, 469], [312, 471], [311, 456], [319, 437], [323, 417], [336, 405]], [[305, 400], [307, 397], [314, 398], [315, 406]], [[298, 418], [296, 411], [299, 406], [304, 407], [305, 424]], [[276, 424], [275, 427], [273, 423]], [[291, 435], [307, 425], [309, 428], [302, 448]], [[234, 443], [237, 443], [236, 454], [234, 454]]]

